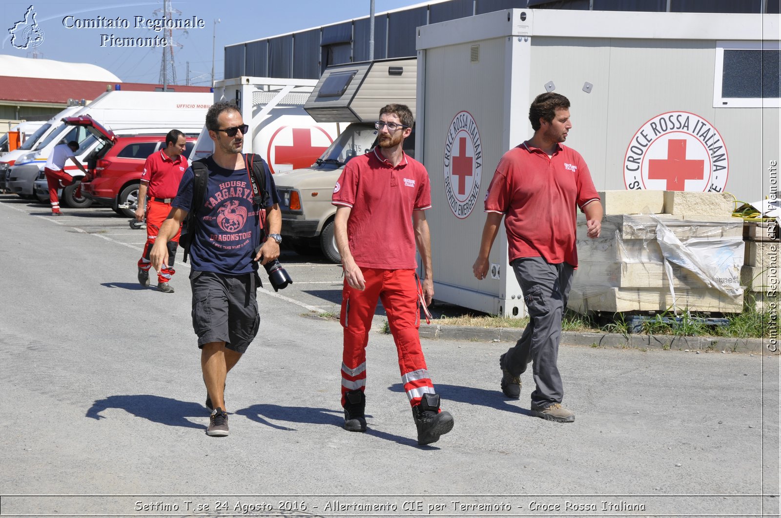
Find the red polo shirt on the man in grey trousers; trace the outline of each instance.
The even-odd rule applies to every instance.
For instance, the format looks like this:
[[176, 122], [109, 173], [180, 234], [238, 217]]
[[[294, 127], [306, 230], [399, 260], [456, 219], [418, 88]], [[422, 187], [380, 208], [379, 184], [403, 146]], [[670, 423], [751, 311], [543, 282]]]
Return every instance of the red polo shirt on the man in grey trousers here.
[[559, 144], [552, 157], [524, 142], [499, 161], [486, 194], [486, 212], [505, 215], [510, 261], [543, 257], [578, 265], [576, 207], [599, 203], [586, 162]]

